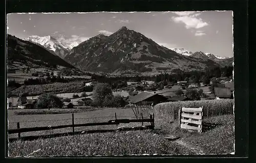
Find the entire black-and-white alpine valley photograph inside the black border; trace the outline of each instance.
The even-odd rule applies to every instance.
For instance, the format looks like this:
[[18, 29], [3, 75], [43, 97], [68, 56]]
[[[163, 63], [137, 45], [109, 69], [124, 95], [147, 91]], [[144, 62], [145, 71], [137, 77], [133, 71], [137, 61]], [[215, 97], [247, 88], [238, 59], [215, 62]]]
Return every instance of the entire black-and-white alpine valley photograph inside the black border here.
[[231, 27], [229, 11], [9, 14], [8, 155], [234, 154]]

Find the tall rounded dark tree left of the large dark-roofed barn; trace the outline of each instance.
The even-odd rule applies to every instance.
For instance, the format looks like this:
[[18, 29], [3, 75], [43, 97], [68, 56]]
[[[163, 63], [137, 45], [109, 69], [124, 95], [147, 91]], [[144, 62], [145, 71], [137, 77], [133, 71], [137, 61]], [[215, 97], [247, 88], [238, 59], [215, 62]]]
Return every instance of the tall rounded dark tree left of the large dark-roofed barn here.
[[93, 99], [97, 106], [103, 106], [105, 97], [110, 95], [112, 95], [112, 89], [109, 84], [98, 83], [93, 88]]

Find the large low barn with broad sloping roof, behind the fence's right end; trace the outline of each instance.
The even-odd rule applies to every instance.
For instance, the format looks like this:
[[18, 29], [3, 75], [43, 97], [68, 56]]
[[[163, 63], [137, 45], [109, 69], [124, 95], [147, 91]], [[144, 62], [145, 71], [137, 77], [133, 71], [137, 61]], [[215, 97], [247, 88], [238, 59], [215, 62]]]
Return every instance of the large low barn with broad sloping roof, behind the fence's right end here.
[[158, 95], [158, 94], [153, 94], [150, 92], [141, 92], [140, 94], [131, 97], [129, 99], [129, 102], [131, 104], [136, 104], [136, 105], [151, 105], [152, 103], [158, 104], [160, 102], [166, 102], [168, 98]]

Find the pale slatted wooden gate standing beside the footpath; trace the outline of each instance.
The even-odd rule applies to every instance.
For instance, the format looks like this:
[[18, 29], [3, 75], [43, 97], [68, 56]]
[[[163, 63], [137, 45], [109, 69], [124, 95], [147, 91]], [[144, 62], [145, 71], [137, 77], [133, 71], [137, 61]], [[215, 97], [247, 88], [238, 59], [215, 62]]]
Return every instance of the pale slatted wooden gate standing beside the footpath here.
[[203, 107], [179, 109], [179, 126], [189, 130], [202, 132]]

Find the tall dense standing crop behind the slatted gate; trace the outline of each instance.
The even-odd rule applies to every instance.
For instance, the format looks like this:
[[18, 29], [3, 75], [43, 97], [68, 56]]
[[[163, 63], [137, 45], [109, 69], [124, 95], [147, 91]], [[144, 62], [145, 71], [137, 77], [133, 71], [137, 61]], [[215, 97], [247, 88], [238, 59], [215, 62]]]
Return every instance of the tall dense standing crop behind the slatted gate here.
[[182, 107], [204, 107], [203, 116], [207, 116], [207, 107], [209, 107], [208, 115], [216, 116], [219, 115], [221, 108], [221, 114], [231, 114], [233, 108], [233, 99], [223, 100], [204, 100], [204, 101], [178, 101], [178, 102], [167, 102], [160, 103], [154, 107], [156, 119], [159, 121], [174, 121], [178, 119], [179, 108]]

